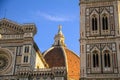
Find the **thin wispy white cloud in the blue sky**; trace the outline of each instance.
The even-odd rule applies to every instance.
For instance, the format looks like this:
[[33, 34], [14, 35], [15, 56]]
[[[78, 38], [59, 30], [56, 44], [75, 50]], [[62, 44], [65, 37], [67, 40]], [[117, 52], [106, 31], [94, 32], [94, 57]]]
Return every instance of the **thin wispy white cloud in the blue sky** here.
[[51, 14], [41, 13], [41, 12], [39, 12], [37, 15], [50, 21], [56, 21], [56, 22], [72, 21], [72, 18], [68, 16], [57, 16], [57, 15], [51, 15]]

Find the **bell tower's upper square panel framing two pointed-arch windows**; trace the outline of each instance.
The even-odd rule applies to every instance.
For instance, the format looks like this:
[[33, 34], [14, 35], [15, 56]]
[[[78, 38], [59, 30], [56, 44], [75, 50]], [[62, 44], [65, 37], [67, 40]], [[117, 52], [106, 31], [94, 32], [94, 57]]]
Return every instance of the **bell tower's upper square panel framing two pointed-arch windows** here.
[[86, 8], [86, 36], [115, 35], [113, 6]]

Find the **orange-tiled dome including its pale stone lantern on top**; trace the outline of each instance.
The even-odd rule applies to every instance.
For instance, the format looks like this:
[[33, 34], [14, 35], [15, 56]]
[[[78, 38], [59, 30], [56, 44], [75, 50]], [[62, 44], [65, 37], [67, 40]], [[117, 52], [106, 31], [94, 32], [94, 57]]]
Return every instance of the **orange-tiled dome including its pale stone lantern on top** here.
[[59, 27], [55, 35], [55, 42], [52, 47], [43, 53], [43, 57], [49, 67], [66, 67], [69, 80], [80, 78], [80, 58], [73, 51], [69, 50], [64, 43], [64, 35]]

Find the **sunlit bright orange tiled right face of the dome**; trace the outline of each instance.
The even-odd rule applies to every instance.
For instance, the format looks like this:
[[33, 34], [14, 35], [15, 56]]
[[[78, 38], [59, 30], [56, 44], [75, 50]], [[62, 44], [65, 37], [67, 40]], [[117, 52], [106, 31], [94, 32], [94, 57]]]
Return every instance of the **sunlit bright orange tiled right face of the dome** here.
[[70, 79], [79, 80], [80, 78], [80, 58], [70, 51], [65, 49], [68, 65], [68, 76]]

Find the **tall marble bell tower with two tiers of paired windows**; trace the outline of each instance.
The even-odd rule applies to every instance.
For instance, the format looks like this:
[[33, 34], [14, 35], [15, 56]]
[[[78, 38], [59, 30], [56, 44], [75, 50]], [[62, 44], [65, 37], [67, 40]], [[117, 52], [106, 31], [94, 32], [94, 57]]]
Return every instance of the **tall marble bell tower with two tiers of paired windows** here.
[[81, 80], [120, 79], [120, 0], [80, 0]]

